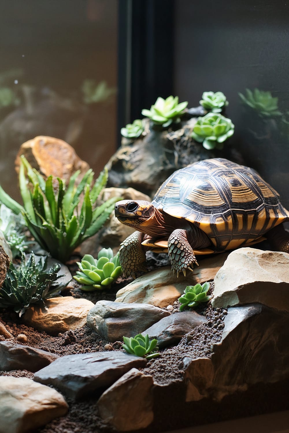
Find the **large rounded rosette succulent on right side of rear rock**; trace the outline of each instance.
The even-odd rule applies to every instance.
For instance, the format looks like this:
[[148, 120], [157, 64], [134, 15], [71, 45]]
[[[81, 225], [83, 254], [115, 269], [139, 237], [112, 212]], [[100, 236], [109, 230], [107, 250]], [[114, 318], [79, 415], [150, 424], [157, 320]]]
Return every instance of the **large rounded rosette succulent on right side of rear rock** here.
[[234, 134], [234, 127], [231, 119], [219, 113], [208, 113], [198, 117], [192, 138], [202, 142], [205, 149], [223, 149], [223, 142]]

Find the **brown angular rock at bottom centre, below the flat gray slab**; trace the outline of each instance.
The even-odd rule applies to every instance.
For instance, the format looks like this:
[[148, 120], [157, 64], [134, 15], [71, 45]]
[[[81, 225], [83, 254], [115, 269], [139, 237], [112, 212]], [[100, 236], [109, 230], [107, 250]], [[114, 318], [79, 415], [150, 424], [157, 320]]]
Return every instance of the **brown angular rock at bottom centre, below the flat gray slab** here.
[[153, 378], [136, 368], [125, 373], [97, 402], [105, 422], [117, 431], [144, 429], [153, 422]]

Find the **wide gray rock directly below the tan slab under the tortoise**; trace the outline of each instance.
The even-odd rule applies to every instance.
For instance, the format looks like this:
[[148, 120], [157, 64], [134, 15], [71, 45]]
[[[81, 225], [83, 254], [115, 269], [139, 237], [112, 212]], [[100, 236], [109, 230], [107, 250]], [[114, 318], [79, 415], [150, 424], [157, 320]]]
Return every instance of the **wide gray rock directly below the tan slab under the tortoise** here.
[[133, 337], [169, 315], [150, 304], [98, 301], [88, 313], [87, 324], [103, 339], [115, 342], [123, 336]]

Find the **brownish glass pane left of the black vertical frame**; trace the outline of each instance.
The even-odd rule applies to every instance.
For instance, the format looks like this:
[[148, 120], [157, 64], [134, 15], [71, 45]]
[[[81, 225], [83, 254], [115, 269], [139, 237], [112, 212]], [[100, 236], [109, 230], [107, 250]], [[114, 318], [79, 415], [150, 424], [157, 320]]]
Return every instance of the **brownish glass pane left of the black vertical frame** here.
[[0, 0], [0, 183], [14, 198], [14, 159], [26, 140], [64, 139], [96, 173], [114, 153], [117, 7]]

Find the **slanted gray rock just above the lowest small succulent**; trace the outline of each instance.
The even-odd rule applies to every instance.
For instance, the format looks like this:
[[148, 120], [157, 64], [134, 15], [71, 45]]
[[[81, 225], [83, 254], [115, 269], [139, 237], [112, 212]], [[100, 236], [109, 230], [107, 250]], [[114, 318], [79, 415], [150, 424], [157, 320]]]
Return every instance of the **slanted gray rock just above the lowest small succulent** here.
[[143, 335], [149, 335], [149, 339], [156, 338], [158, 347], [163, 349], [166, 346], [177, 344], [182, 337], [196, 326], [207, 322], [207, 318], [195, 311], [182, 311], [171, 316], [164, 317], [143, 331]]

